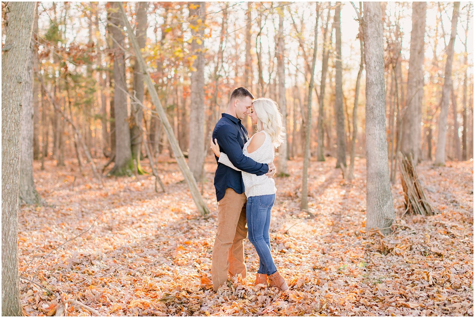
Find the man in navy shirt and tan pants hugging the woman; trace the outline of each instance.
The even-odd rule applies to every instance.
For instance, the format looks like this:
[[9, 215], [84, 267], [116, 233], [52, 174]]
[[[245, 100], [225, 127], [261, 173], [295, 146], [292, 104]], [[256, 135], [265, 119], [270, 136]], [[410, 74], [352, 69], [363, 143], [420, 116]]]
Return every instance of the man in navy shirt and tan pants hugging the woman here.
[[[219, 150], [228, 155], [233, 165], [257, 176], [272, 177], [274, 164], [258, 163], [243, 155], [242, 149], [249, 139], [241, 123], [249, 114], [254, 96], [244, 87], [233, 90], [228, 109], [222, 113], [213, 130], [213, 140], [218, 140]], [[211, 278], [213, 290], [228, 281], [229, 276], [241, 274], [246, 278], [243, 240], [247, 237], [246, 195], [240, 171], [218, 162], [214, 176], [218, 200], [218, 232], [214, 241]]]

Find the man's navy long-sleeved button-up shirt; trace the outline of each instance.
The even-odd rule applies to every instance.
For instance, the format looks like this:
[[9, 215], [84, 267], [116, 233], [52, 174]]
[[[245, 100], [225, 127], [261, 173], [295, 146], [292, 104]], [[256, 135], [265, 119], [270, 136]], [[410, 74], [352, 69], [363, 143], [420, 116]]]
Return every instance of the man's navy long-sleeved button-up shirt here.
[[[222, 113], [222, 117], [213, 130], [213, 141], [218, 140], [219, 150], [228, 155], [229, 160], [242, 171], [246, 171], [257, 176], [262, 176], [269, 171], [266, 163], [258, 163], [242, 153], [244, 144], [249, 140], [246, 128], [241, 124], [241, 120], [227, 113]], [[218, 162], [218, 168], [214, 175], [214, 187], [216, 189], [216, 199], [218, 202], [224, 197], [226, 189], [232, 188], [236, 193], [244, 192], [241, 171], [229, 168]]]

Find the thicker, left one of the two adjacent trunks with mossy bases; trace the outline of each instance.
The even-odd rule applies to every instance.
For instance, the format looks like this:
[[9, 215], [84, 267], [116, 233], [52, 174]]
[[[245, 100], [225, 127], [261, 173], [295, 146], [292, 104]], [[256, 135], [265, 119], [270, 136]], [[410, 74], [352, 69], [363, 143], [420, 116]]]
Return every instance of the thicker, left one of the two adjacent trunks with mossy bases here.
[[109, 2], [113, 11], [110, 15], [111, 31], [114, 38], [114, 115], [115, 115], [115, 159], [110, 174], [115, 176], [132, 175], [133, 160], [130, 143], [129, 118], [125, 84], [124, 52], [125, 36], [122, 32], [123, 20], [119, 10], [122, 2]]

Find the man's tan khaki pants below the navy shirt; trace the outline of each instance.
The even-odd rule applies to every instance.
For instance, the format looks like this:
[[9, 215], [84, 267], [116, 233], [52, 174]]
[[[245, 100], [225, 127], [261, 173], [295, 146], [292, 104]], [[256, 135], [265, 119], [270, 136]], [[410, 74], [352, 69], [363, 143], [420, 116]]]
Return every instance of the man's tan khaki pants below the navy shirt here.
[[227, 188], [218, 202], [218, 232], [214, 240], [211, 263], [213, 290], [228, 280], [229, 275], [246, 278], [243, 240], [247, 237], [246, 195]]

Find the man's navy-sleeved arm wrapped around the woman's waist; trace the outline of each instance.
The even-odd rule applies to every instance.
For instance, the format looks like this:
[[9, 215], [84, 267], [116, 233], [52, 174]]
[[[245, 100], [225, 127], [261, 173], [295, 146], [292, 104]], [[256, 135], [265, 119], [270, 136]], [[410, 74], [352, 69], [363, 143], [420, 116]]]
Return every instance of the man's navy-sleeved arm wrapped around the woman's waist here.
[[246, 157], [242, 153], [242, 148], [237, 141], [237, 133], [228, 125], [219, 127], [216, 139], [219, 149], [228, 155], [229, 161], [242, 171], [261, 176], [269, 171], [266, 163], [258, 163], [253, 159]]

